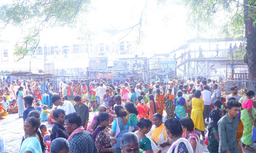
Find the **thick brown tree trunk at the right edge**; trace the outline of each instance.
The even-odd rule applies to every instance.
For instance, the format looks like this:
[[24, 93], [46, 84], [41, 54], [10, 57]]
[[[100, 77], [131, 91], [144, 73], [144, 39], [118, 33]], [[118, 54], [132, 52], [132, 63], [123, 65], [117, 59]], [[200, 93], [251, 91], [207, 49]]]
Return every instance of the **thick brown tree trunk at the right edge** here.
[[249, 80], [256, 81], [256, 31], [255, 27], [252, 26], [252, 20], [248, 18], [249, 7], [246, 4], [248, 4], [248, 0], [244, 0], [245, 38], [247, 42], [244, 62], [248, 65]]

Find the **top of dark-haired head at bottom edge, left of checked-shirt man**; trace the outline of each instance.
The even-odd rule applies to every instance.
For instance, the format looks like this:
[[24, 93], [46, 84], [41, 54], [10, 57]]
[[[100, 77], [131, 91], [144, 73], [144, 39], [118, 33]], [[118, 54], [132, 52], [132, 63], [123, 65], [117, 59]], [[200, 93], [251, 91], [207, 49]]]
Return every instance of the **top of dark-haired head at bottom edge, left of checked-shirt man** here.
[[69, 142], [64, 138], [56, 138], [51, 141], [50, 153], [70, 153]]

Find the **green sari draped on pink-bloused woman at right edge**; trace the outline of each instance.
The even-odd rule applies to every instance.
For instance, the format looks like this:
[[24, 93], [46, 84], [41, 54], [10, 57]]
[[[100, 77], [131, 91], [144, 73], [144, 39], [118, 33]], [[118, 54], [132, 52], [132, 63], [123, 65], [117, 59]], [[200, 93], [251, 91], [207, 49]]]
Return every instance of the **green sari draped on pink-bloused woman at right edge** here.
[[[244, 97], [241, 97], [239, 102], [242, 103], [242, 99]], [[240, 107], [241, 110], [241, 107]], [[252, 107], [252, 116], [255, 119], [255, 109], [254, 107]], [[241, 121], [244, 124], [244, 132], [243, 132], [243, 136], [241, 138], [241, 141], [245, 144], [245, 145], [252, 145], [252, 127], [253, 127], [253, 123], [252, 123], [252, 119], [249, 116], [247, 109], [241, 110]]]

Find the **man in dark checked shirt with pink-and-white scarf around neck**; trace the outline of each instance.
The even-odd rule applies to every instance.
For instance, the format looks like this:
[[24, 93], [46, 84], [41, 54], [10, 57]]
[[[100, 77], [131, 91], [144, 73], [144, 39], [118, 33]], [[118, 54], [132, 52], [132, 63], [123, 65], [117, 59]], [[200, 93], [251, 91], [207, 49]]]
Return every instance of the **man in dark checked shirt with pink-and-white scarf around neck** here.
[[98, 153], [93, 135], [81, 126], [82, 120], [78, 113], [69, 113], [64, 121], [64, 128], [71, 133], [68, 137], [71, 153]]

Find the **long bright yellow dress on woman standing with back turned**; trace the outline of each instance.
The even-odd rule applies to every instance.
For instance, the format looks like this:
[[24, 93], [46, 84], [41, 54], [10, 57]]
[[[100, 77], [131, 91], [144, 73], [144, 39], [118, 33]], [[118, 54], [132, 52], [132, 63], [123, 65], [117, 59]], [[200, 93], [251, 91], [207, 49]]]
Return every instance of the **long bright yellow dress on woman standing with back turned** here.
[[199, 129], [200, 131], [204, 131], [204, 100], [200, 98], [192, 99], [192, 111], [191, 111], [191, 119], [194, 122], [194, 129]]

